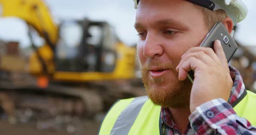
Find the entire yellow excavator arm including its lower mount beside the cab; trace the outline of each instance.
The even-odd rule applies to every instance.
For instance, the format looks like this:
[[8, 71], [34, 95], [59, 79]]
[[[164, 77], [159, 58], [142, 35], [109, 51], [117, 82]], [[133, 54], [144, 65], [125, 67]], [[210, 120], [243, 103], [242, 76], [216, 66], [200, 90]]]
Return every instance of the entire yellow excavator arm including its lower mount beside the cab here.
[[[0, 0], [1, 16], [17, 17], [32, 26], [45, 39], [46, 45], [37, 48], [33, 40], [34, 53], [30, 57], [30, 73], [52, 74], [56, 42], [59, 38], [58, 27], [54, 24], [43, 0]], [[29, 33], [30, 35], [30, 33]], [[31, 37], [31, 35], [30, 35]]]

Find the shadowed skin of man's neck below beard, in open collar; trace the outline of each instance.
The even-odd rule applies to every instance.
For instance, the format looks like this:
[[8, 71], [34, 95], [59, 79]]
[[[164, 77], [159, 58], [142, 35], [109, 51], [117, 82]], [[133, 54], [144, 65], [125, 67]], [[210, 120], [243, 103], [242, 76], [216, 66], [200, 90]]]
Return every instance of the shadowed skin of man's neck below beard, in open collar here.
[[172, 120], [181, 131], [181, 133], [184, 133], [187, 129], [187, 124], [189, 123], [188, 117], [190, 116], [190, 109], [188, 107], [184, 108], [169, 108], [172, 116]]

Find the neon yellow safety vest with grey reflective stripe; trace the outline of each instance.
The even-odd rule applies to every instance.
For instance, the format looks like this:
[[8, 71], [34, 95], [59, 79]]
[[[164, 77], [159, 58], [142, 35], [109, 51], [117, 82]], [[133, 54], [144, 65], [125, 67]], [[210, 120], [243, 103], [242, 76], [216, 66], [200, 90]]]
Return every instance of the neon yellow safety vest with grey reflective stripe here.
[[[246, 91], [232, 104], [238, 116], [256, 126], [256, 94]], [[99, 135], [162, 135], [161, 106], [154, 105], [148, 96], [119, 100], [102, 121]]]

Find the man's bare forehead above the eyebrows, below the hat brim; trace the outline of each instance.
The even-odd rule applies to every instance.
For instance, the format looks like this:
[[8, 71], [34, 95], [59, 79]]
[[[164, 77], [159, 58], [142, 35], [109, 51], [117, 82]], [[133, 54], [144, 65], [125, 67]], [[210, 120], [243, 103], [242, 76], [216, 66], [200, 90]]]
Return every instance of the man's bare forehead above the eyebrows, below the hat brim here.
[[[193, 16], [193, 13], [198, 14], [194, 4], [185, 0], [161, 0], [169, 1], [168, 3], [158, 3], [156, 0], [141, 0], [141, 5], [138, 6], [136, 13], [136, 23], [142, 21], [154, 21], [158, 24], [176, 23], [182, 24], [181, 20]], [[172, 2], [170, 2], [172, 1]], [[192, 9], [194, 11], [192, 11]], [[144, 22], [143, 22], [144, 23]]]

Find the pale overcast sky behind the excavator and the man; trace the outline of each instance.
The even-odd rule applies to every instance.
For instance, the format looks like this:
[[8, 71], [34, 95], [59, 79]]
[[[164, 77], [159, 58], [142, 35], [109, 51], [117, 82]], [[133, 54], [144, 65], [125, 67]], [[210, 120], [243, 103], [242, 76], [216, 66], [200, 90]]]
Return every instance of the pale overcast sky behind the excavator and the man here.
[[[135, 22], [133, 0], [44, 0], [56, 22], [61, 19], [82, 19], [107, 21], [115, 27], [118, 38], [127, 45], [134, 45], [138, 40], [133, 25]], [[256, 0], [243, 0], [248, 7], [248, 16], [238, 24], [234, 39], [243, 45], [256, 46]], [[22, 47], [30, 45], [27, 26], [23, 20], [0, 18], [0, 39], [13, 40]], [[40, 42], [40, 40], [38, 40]]]

